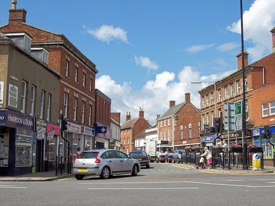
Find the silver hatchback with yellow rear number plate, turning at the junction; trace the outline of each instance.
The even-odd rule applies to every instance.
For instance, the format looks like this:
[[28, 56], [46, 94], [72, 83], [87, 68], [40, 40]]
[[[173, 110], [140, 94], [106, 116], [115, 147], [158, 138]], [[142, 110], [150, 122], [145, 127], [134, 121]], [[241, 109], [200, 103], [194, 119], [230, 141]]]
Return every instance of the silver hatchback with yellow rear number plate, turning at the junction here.
[[115, 174], [136, 176], [140, 172], [139, 161], [117, 149], [83, 151], [73, 161], [72, 172], [76, 179], [85, 175], [99, 175], [103, 179]]

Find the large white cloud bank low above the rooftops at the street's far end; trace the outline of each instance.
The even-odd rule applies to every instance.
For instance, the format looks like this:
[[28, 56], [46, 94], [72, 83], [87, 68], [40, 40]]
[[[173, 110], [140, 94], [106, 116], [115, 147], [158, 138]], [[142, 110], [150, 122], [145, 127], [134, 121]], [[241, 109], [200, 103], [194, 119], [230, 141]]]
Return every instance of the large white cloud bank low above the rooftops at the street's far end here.
[[198, 90], [210, 83], [191, 84], [191, 81], [216, 81], [233, 71], [200, 76], [191, 66], [184, 66], [177, 74], [163, 71], [155, 79], [147, 81], [140, 90], [132, 90], [130, 82], [117, 84], [109, 75], [96, 78], [96, 87], [111, 98], [111, 112], [120, 112], [121, 124], [125, 121], [126, 111], [131, 118], [138, 117], [139, 108], [144, 110], [144, 118], [155, 124], [157, 114], [164, 114], [169, 109], [169, 100], [176, 104], [185, 101], [185, 92], [191, 93], [191, 102], [199, 108]]

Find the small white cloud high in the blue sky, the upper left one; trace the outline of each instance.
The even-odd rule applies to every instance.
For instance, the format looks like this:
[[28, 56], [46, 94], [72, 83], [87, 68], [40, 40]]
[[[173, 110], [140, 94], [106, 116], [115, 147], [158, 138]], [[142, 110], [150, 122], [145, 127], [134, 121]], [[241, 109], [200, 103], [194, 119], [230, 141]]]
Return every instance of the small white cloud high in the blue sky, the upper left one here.
[[111, 40], [119, 39], [125, 43], [128, 43], [127, 40], [127, 31], [120, 27], [113, 27], [113, 25], [101, 25], [99, 28], [96, 29], [90, 29], [83, 25], [83, 28], [88, 32], [89, 34], [93, 35], [95, 38], [97, 38], [100, 41], [104, 41], [109, 43]]

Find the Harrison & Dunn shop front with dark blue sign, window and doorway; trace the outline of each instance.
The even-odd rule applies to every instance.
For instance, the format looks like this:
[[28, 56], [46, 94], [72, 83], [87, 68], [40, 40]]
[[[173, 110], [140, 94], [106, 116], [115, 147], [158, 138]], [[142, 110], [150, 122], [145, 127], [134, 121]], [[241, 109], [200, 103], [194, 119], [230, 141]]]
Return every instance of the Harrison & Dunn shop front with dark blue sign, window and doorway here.
[[34, 118], [0, 110], [0, 175], [32, 172]]

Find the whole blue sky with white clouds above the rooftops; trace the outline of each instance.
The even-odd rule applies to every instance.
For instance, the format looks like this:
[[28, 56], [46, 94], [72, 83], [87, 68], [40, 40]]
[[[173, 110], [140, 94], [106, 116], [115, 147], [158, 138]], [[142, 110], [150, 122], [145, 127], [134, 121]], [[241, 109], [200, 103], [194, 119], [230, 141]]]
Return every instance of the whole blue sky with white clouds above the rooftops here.
[[[0, 0], [0, 25], [11, 0]], [[237, 70], [241, 50], [239, 0], [17, 0], [26, 23], [63, 33], [95, 65], [95, 87], [111, 112], [151, 125], [185, 101], [199, 108], [198, 90]], [[248, 64], [271, 53], [275, 0], [242, 0]]]

